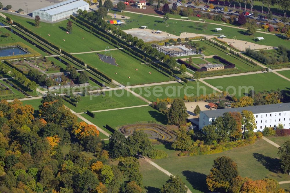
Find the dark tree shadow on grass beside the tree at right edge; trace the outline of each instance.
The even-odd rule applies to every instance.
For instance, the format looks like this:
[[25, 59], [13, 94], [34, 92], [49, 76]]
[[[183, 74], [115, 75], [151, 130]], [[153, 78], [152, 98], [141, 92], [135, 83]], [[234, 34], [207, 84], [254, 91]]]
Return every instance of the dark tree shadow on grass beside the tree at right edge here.
[[267, 170], [277, 173], [280, 169], [280, 159], [264, 156], [263, 154], [253, 153], [255, 159], [260, 162]]

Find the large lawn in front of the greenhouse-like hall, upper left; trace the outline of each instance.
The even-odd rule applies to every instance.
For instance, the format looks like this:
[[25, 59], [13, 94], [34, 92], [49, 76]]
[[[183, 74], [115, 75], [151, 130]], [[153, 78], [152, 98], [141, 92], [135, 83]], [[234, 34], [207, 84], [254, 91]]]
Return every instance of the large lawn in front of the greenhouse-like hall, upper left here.
[[[44, 37], [47, 41], [54, 43], [67, 52], [75, 53], [104, 50], [107, 46], [109, 46], [108, 43], [95, 37], [90, 32], [87, 32], [86, 30], [78, 27], [76, 24], [73, 24], [72, 34], [67, 34], [66, 24], [68, 20], [60, 21], [57, 23], [41, 22], [40, 26], [36, 28], [34, 26], [34, 20], [32, 19], [6, 13], [5, 15], [18, 23], [21, 22], [21, 24], [26, 28], [37, 34], [41, 34], [41, 36]], [[48, 34], [50, 34], [50, 36], [48, 36]]]

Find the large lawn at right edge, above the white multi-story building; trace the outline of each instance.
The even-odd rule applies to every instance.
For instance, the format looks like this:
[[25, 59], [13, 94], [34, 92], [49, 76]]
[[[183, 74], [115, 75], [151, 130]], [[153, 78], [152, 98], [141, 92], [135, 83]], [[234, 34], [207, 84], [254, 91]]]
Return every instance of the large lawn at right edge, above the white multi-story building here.
[[[279, 77], [274, 73], [263, 73], [263, 74], [250, 74], [244, 76], [237, 76], [237, 77], [226, 77], [226, 78], [219, 78], [219, 79], [209, 79], [204, 80], [207, 83], [217, 87], [222, 86], [223, 88], [219, 88], [220, 90], [228, 91], [230, 94], [233, 94], [233, 87], [235, 88], [237, 98], [245, 96], [244, 92], [249, 93], [251, 88], [255, 90], [255, 93], [268, 91], [270, 90], [284, 90], [289, 88], [289, 81]], [[248, 87], [248, 90], [240, 89], [242, 86]]]

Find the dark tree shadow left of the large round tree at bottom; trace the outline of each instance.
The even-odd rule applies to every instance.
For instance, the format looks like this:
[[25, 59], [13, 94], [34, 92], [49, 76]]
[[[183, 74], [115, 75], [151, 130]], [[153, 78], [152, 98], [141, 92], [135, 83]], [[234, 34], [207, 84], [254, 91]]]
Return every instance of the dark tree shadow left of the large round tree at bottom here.
[[200, 192], [208, 192], [206, 187], [206, 175], [199, 172], [191, 172], [189, 170], [182, 171], [182, 174], [186, 177], [186, 180], [190, 185]]

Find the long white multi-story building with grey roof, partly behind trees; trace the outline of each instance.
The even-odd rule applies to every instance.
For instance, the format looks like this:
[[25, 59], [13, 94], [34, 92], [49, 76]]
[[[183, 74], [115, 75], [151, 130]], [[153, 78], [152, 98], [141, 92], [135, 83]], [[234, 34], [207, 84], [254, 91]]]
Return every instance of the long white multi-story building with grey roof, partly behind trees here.
[[257, 125], [254, 131], [262, 131], [265, 127], [275, 128], [278, 124], [283, 124], [285, 129], [290, 129], [290, 103], [200, 111], [199, 128], [211, 124], [225, 112], [241, 113], [242, 110], [253, 112]]

